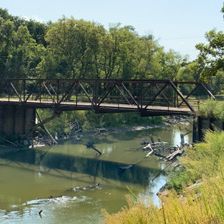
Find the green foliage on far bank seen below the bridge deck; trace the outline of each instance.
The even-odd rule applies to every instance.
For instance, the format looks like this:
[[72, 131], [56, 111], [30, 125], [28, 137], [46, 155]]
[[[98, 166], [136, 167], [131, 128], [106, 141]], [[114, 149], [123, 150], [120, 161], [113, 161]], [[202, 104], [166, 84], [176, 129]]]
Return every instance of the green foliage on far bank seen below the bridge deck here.
[[[53, 112], [50, 110], [38, 110], [42, 120], [51, 117]], [[54, 120], [46, 124], [51, 134], [56, 133], [60, 136], [69, 134], [71, 126], [78, 122], [83, 130], [93, 128], [119, 128], [134, 125], [154, 125], [162, 122], [161, 117], [140, 117], [136, 113], [120, 114], [96, 114], [92, 111], [70, 111], [64, 112]]]

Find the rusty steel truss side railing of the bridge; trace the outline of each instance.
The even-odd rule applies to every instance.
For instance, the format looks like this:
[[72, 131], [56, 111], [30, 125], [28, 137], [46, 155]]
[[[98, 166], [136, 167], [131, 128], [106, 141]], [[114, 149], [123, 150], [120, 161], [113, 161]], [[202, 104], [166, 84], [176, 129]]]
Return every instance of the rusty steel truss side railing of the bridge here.
[[194, 112], [200, 100], [214, 98], [199, 82], [116, 79], [3, 79], [0, 100], [20, 103], [86, 105], [94, 109], [150, 110], [150, 107], [188, 108]]

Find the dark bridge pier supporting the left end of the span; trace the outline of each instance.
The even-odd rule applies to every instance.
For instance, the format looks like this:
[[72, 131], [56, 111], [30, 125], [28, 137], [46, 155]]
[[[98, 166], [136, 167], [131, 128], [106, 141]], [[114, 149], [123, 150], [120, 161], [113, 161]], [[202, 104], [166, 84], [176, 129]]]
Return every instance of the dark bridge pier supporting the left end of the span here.
[[35, 125], [35, 108], [22, 105], [0, 106], [0, 134], [6, 138], [24, 138]]

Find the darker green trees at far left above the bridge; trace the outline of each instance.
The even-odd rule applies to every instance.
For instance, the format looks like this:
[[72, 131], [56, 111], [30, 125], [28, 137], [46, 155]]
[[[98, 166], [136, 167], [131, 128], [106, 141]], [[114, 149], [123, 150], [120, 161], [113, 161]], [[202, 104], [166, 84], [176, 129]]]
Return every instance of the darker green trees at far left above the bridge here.
[[45, 48], [32, 37], [28, 24], [5, 10], [0, 11], [0, 70], [3, 78], [37, 75], [36, 67]]

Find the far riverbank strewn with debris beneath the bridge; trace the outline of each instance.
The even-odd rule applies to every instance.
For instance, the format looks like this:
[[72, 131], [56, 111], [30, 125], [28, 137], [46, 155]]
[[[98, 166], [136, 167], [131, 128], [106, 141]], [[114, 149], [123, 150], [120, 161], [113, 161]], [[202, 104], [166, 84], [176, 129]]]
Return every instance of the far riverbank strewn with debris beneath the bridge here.
[[[144, 130], [150, 130], [155, 128], [167, 128], [172, 127], [173, 125], [179, 125], [179, 127], [182, 126], [182, 128], [186, 128], [190, 125], [191, 121], [188, 117], [163, 117], [163, 119], [157, 120], [154, 122], [144, 123], [140, 122], [141, 124], [132, 124], [132, 125], [119, 125], [118, 127], [115, 126], [103, 126], [103, 127], [95, 127], [95, 128], [89, 128], [85, 129], [82, 128], [82, 126], [78, 125], [78, 129], [73, 130], [72, 128], [67, 131], [63, 132], [60, 135], [57, 132], [51, 133], [51, 138], [49, 139], [49, 135], [43, 135], [41, 138], [36, 137], [34, 139], [34, 148], [45, 146], [45, 145], [55, 145], [55, 144], [64, 144], [64, 143], [73, 143], [73, 144], [79, 144], [83, 141], [93, 141], [93, 138], [103, 138], [106, 135], [119, 135], [120, 133], [125, 132], [132, 132], [132, 131], [144, 131]], [[50, 128], [52, 130], [52, 128]], [[191, 130], [187, 130], [185, 132], [191, 132]], [[68, 134], [69, 133], [69, 134]], [[151, 136], [153, 139], [153, 136]], [[161, 139], [163, 141], [163, 139]]]

